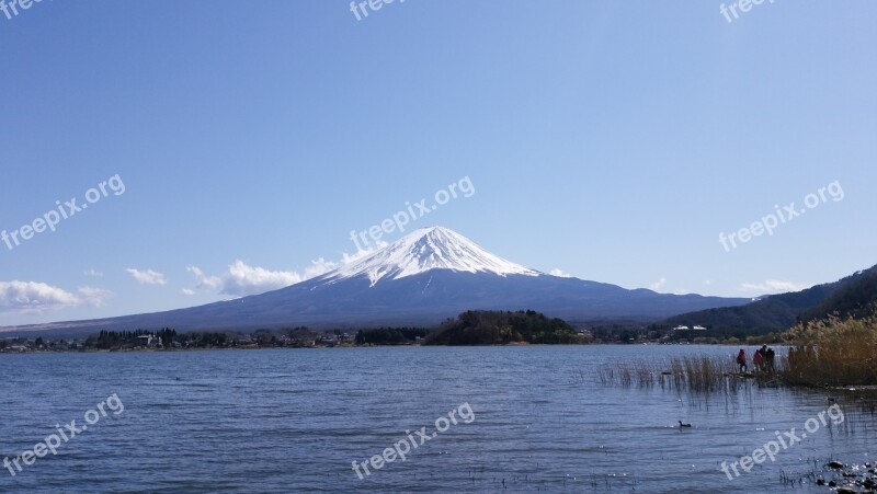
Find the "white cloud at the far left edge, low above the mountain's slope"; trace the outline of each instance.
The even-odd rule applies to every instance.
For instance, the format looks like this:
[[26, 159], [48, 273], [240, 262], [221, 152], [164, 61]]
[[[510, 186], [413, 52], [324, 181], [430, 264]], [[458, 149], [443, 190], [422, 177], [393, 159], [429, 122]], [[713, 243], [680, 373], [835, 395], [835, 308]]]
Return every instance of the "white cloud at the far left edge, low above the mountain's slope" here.
[[81, 287], [76, 292], [38, 282], [0, 282], [0, 312], [32, 313], [66, 307], [102, 306], [112, 292]]

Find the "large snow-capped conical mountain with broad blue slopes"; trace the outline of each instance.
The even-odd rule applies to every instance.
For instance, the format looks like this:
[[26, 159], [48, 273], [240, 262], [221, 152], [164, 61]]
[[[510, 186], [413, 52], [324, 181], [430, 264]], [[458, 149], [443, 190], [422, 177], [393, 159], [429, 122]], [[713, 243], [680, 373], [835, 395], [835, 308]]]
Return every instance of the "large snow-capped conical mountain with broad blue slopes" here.
[[231, 330], [435, 325], [466, 310], [532, 309], [567, 320], [656, 320], [749, 299], [665, 295], [547, 275], [441, 227], [415, 230], [339, 269], [266, 294], [167, 312], [15, 330]]

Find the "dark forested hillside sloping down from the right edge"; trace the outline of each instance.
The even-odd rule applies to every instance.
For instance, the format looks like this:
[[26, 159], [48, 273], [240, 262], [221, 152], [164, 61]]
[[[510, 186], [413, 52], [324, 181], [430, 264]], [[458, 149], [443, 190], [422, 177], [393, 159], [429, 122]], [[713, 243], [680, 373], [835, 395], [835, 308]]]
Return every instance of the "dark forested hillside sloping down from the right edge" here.
[[786, 330], [799, 321], [823, 319], [830, 313], [863, 317], [877, 303], [877, 266], [834, 283], [806, 290], [764, 297], [740, 307], [707, 309], [672, 317], [667, 324], [701, 324], [767, 333]]

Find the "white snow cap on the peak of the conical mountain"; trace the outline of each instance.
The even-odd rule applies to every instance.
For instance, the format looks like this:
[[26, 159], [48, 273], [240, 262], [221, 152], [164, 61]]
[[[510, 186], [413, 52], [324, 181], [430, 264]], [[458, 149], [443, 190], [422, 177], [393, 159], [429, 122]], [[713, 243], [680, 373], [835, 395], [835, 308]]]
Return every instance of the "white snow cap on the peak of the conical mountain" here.
[[499, 276], [539, 276], [542, 273], [506, 261], [462, 234], [443, 227], [421, 228], [374, 254], [321, 276], [335, 283], [366, 276], [375, 286], [381, 279], [400, 279], [431, 269], [492, 273]]

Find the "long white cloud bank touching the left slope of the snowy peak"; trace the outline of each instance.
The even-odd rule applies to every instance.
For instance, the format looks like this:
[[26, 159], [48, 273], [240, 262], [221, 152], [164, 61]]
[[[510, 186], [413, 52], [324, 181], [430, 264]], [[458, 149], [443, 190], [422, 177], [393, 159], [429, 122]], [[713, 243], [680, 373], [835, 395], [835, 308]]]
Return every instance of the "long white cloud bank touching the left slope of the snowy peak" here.
[[[192, 294], [195, 290], [216, 290], [220, 294], [243, 297], [247, 295], [263, 294], [265, 291], [285, 288], [296, 283], [320, 276], [337, 269], [345, 264], [358, 261], [376, 251], [387, 246], [386, 242], [377, 242], [376, 246], [368, 250], [361, 250], [354, 254], [342, 253], [341, 261], [327, 261], [319, 257], [310, 262], [303, 273], [295, 271], [271, 271], [264, 267], [251, 266], [243, 261], [237, 260], [228, 266], [228, 271], [221, 276], [207, 276], [197, 266], [189, 266], [186, 269], [195, 276], [197, 285], [189, 289]], [[185, 295], [190, 295], [184, 290]]]

